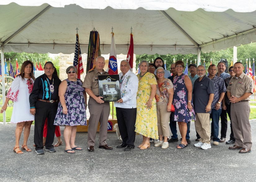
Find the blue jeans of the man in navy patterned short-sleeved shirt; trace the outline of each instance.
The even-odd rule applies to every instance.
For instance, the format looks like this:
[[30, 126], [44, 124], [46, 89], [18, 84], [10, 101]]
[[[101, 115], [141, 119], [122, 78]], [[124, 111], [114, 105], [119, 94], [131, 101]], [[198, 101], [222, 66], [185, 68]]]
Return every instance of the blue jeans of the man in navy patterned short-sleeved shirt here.
[[212, 109], [212, 113], [210, 114], [210, 118], [212, 119], [212, 136], [213, 141], [219, 142], [219, 120], [220, 120], [221, 109], [215, 110]]

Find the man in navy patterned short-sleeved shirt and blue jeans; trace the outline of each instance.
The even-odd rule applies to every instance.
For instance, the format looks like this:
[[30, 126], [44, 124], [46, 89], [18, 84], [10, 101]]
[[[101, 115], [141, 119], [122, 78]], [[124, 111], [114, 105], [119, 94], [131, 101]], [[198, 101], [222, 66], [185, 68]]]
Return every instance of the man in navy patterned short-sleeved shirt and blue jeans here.
[[[213, 145], [219, 145], [220, 139], [219, 135], [219, 119], [222, 111], [222, 100], [226, 92], [226, 86], [224, 80], [218, 76], [217, 67], [215, 65], [210, 65], [208, 68], [209, 78], [213, 81], [214, 84], [214, 97], [212, 102], [212, 112], [210, 118], [212, 119], [212, 136], [213, 136]], [[223, 101], [225, 102], [225, 101]]]

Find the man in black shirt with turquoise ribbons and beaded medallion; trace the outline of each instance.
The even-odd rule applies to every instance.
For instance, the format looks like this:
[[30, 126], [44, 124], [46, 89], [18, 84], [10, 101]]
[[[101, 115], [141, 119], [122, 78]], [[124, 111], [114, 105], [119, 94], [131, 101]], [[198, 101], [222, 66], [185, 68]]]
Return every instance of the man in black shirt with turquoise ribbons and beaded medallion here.
[[44, 65], [44, 74], [36, 78], [33, 90], [29, 96], [30, 113], [35, 115], [34, 143], [37, 154], [44, 154], [43, 151], [43, 127], [47, 118], [47, 137], [45, 150], [56, 152], [52, 145], [54, 140], [55, 125], [53, 125], [58, 103], [59, 85], [61, 80], [53, 74], [52, 62]]

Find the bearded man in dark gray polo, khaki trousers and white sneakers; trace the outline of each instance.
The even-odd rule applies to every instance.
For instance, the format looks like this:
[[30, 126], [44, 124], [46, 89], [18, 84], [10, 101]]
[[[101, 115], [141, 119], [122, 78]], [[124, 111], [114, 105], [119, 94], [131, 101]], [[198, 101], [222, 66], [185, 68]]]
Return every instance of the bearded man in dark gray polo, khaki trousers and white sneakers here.
[[206, 70], [204, 66], [197, 67], [197, 75], [199, 78], [194, 84], [194, 109], [195, 109], [195, 129], [200, 135], [200, 141], [194, 146], [207, 150], [211, 147], [211, 129], [210, 129], [210, 113], [211, 104], [214, 96], [214, 84], [210, 78], [205, 76]]

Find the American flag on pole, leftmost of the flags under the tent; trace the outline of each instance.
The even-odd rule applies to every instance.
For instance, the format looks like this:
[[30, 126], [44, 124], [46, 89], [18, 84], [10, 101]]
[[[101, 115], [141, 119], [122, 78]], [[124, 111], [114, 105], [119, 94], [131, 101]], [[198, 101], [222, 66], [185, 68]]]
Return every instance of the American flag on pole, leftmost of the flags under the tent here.
[[76, 34], [76, 44], [75, 44], [75, 55], [74, 55], [74, 62], [73, 65], [77, 68], [77, 78], [80, 79], [80, 75], [83, 74], [83, 62], [82, 62], [82, 55], [79, 46], [78, 34]]

